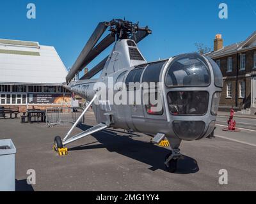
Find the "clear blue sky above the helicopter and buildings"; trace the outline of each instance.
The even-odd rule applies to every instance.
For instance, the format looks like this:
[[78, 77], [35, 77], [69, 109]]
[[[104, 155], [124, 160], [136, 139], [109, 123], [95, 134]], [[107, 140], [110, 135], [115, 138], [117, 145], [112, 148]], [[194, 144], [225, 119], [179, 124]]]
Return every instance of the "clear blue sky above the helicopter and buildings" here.
[[[26, 18], [28, 3], [36, 4], [35, 20]], [[228, 19], [218, 18], [220, 3], [228, 5]], [[256, 1], [1, 0], [0, 38], [52, 45], [68, 68], [100, 21], [124, 17], [152, 29], [139, 48], [147, 61], [154, 61], [195, 52], [196, 42], [212, 47], [217, 33], [223, 35], [224, 45], [245, 40], [256, 31]], [[109, 49], [97, 61], [108, 52]]]

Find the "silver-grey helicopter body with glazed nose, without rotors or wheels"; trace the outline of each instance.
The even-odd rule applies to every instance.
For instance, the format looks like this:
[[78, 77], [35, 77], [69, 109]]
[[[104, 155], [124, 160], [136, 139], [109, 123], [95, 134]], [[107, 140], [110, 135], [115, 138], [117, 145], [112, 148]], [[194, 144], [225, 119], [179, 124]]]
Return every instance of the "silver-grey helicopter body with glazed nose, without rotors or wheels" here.
[[[223, 80], [218, 65], [204, 55], [182, 54], [147, 62], [134, 41], [118, 40], [99, 78], [72, 81], [66, 87], [90, 101], [99, 91], [95, 90], [96, 83], [102, 82], [110, 89], [109, 78], [113, 78], [114, 86], [116, 82], [127, 85], [129, 82], [159, 82], [163, 109], [148, 112], [147, 105], [143, 104], [143, 92], [140, 92], [140, 105], [108, 104], [99, 99], [100, 103], [92, 104], [98, 123], [151, 136], [163, 133], [178, 146], [181, 140], [199, 140], [214, 130]], [[127, 88], [127, 92], [140, 89], [142, 87]], [[114, 89], [114, 94], [122, 91]]]

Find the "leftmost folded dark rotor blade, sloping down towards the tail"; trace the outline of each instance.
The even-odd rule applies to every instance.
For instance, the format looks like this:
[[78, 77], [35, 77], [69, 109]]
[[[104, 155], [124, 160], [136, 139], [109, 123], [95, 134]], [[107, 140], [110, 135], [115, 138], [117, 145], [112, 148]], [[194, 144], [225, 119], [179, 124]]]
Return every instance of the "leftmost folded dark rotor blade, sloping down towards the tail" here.
[[106, 31], [106, 29], [107, 29], [106, 22], [100, 22], [97, 25], [97, 27], [96, 27], [95, 31], [93, 32], [92, 36], [90, 37], [90, 39], [88, 40], [88, 42], [84, 46], [81, 54], [79, 55], [75, 64], [72, 66], [72, 69], [68, 73], [68, 75], [66, 77], [67, 83], [70, 82], [72, 80], [72, 78], [75, 77], [75, 75], [78, 71], [81, 71], [81, 66], [83, 64], [83, 60], [92, 51], [93, 47], [96, 45], [97, 41], [99, 41], [100, 37]]

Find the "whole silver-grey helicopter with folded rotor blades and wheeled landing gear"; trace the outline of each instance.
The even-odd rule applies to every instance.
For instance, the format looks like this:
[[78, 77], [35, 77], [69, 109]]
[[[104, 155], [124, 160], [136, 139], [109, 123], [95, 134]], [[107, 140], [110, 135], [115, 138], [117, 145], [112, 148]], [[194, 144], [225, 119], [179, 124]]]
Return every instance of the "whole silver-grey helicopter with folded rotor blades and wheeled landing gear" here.
[[[97, 43], [107, 29], [110, 33]], [[200, 140], [213, 133], [223, 87], [220, 68], [211, 58], [198, 53], [147, 62], [138, 43], [149, 34], [152, 31], [148, 26], [122, 19], [97, 25], [63, 84], [90, 103], [65, 138], [54, 138], [56, 152], [103, 129], [124, 129], [148, 135], [156, 144], [168, 140], [170, 152], [164, 165], [175, 172], [182, 157], [182, 140]], [[113, 43], [106, 58], [74, 80]], [[99, 77], [93, 78], [95, 75]], [[90, 106], [97, 125], [70, 136]]]

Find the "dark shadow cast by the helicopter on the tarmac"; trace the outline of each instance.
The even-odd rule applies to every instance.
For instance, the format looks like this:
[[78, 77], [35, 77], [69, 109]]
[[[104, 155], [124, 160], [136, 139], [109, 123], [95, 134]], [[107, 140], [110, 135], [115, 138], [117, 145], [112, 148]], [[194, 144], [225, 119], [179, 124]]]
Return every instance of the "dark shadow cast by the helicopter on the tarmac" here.
[[[92, 128], [92, 126], [87, 126], [81, 124], [78, 128], [85, 131], [86, 129]], [[166, 171], [164, 166], [164, 157], [170, 152], [170, 150], [157, 145], [153, 145], [149, 142], [143, 142], [138, 140], [133, 140], [132, 135], [124, 135], [120, 131], [99, 131], [98, 133], [93, 133], [92, 136], [98, 140], [101, 144], [95, 144], [97, 142], [84, 144], [78, 147], [73, 147], [68, 150], [86, 150], [86, 149], [100, 149], [106, 148], [109, 152], [116, 152], [122, 154], [123, 156], [136, 159], [142, 163], [146, 163], [152, 167], [149, 169], [156, 171], [158, 169]], [[183, 156], [178, 162], [178, 168], [175, 173], [177, 174], [189, 174], [196, 173], [199, 171], [198, 164], [195, 159]]]

